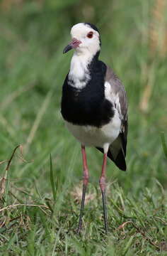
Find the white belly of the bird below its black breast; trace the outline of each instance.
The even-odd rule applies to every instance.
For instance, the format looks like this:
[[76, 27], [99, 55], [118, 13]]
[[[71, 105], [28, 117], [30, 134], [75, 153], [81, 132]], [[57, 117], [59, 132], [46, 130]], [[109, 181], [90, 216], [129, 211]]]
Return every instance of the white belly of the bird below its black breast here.
[[105, 144], [112, 144], [120, 134], [120, 117], [115, 110], [115, 115], [110, 123], [101, 128], [81, 126], [66, 122], [67, 128], [76, 139], [85, 146], [98, 146], [104, 148]]

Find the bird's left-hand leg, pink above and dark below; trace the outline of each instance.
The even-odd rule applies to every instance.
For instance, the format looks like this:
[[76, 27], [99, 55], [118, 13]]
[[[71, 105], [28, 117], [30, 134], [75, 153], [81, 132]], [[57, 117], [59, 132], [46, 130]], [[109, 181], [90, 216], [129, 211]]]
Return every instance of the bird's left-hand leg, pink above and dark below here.
[[82, 152], [82, 160], [83, 160], [83, 168], [84, 168], [84, 177], [83, 177], [81, 210], [80, 210], [80, 215], [79, 215], [79, 226], [78, 226], [77, 233], [79, 233], [81, 231], [81, 227], [82, 227], [82, 217], [83, 217], [83, 212], [84, 212], [85, 194], [86, 194], [86, 187], [88, 185], [88, 165], [87, 165], [87, 160], [86, 160], [85, 146], [81, 145], [81, 152]]

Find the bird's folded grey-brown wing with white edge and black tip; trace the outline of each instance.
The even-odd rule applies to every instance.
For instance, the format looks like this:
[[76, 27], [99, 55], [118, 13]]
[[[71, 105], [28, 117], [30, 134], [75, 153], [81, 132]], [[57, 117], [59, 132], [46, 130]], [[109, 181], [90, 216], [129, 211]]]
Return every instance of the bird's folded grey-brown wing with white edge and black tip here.
[[115, 164], [122, 170], [126, 169], [125, 156], [126, 156], [126, 148], [127, 148], [127, 129], [128, 129], [128, 119], [127, 119], [127, 95], [125, 92], [125, 88], [120, 82], [117, 75], [113, 72], [113, 70], [107, 67], [105, 82], [110, 83], [111, 87], [111, 95], [110, 97], [113, 100], [114, 107], [117, 109], [120, 114], [121, 119], [121, 128], [120, 134], [110, 145], [110, 150], [108, 152], [108, 156], [112, 159]]

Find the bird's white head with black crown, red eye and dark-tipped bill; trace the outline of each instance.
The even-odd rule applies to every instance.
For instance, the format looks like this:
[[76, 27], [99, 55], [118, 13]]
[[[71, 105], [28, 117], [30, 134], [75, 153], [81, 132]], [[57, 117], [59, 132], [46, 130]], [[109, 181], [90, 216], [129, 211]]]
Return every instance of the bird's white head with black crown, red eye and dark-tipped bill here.
[[96, 55], [100, 51], [100, 34], [98, 28], [91, 23], [78, 23], [71, 28], [71, 43], [63, 53], [74, 49], [77, 54]]

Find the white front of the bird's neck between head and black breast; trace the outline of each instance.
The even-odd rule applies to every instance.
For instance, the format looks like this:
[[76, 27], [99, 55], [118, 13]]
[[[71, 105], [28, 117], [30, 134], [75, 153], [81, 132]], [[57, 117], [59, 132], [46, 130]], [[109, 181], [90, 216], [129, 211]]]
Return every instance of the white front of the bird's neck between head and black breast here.
[[89, 80], [91, 80], [91, 70], [98, 63], [98, 55], [92, 55], [90, 52], [84, 54], [75, 52], [72, 59], [68, 75], [69, 85], [76, 87], [76, 89], [83, 89], [86, 87]]

